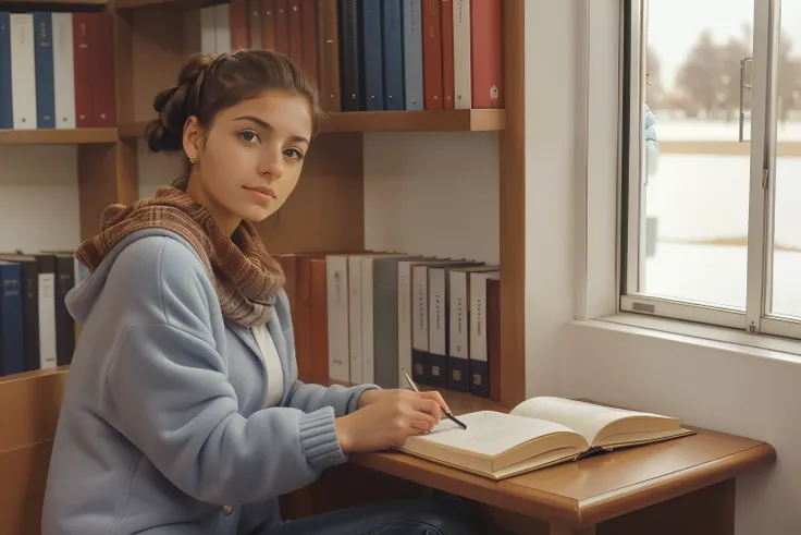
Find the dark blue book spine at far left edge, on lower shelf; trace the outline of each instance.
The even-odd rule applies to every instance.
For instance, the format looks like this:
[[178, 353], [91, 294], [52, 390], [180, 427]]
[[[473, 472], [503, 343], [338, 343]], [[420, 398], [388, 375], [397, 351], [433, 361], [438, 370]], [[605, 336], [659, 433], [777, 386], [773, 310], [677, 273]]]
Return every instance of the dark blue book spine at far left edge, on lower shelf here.
[[25, 370], [25, 354], [19, 264], [0, 266], [0, 375], [21, 374]]

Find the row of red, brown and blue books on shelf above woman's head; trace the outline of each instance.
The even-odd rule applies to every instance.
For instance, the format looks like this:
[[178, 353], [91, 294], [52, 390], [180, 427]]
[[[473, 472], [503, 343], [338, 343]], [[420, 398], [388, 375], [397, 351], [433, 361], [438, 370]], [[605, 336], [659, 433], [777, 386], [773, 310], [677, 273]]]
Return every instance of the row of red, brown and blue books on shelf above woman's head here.
[[502, 0], [230, 0], [198, 19], [200, 51], [282, 52], [329, 111], [504, 107]]

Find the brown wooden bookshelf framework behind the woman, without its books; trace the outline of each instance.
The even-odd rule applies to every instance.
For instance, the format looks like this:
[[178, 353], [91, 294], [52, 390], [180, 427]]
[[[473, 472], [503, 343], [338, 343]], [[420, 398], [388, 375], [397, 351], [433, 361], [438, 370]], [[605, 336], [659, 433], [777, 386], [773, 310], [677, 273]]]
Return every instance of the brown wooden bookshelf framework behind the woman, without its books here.
[[[332, 112], [315, 142], [296, 192], [258, 226], [272, 252], [354, 251], [365, 246], [363, 133], [497, 132], [500, 143], [500, 259], [502, 301], [502, 403], [525, 399], [525, 0], [505, 0], [506, 109]], [[152, 97], [175, 83], [178, 66], [199, 49], [199, 25], [164, 16], [169, 5], [199, 8], [215, 1], [100, 0], [114, 17], [116, 129], [2, 131], [0, 145], [78, 146], [81, 238], [99, 231], [110, 204], [138, 198], [138, 150]], [[184, 13], [185, 15], [188, 13]], [[199, 16], [199, 14], [198, 14]], [[153, 60], [158, 58], [158, 60]], [[331, 198], [343, 199], [331, 203]]]

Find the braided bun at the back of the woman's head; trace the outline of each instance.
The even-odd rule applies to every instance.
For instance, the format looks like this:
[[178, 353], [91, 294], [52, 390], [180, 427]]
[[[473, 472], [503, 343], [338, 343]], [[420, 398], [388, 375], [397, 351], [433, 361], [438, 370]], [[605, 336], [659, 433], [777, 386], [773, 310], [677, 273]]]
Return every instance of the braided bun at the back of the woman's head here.
[[146, 129], [150, 150], [183, 149], [184, 124], [197, 112], [204, 74], [212, 62], [208, 54], [193, 54], [178, 73], [177, 85], [156, 95], [153, 110], [159, 118], [150, 121]]

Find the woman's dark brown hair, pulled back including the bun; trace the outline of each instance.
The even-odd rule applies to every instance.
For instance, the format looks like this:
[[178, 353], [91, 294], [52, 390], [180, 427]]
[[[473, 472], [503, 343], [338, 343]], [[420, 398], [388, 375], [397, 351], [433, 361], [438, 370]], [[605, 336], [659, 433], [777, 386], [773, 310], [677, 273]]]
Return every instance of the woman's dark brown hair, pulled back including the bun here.
[[177, 85], [156, 95], [159, 118], [147, 125], [147, 145], [155, 153], [182, 151], [187, 119], [195, 115], [208, 129], [220, 111], [271, 89], [306, 97], [317, 133], [323, 115], [317, 87], [286, 56], [260, 49], [193, 54], [181, 68]]

